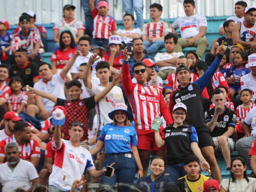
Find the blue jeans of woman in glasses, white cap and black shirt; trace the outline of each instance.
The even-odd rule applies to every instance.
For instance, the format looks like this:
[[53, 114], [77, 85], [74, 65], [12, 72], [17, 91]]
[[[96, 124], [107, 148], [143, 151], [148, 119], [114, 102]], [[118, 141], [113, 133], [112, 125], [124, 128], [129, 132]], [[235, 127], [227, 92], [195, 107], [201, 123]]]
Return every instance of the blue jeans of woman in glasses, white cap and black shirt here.
[[170, 177], [173, 182], [176, 182], [180, 177], [183, 177], [187, 174], [184, 170], [184, 163], [178, 165], [171, 165], [165, 167], [164, 175]]

